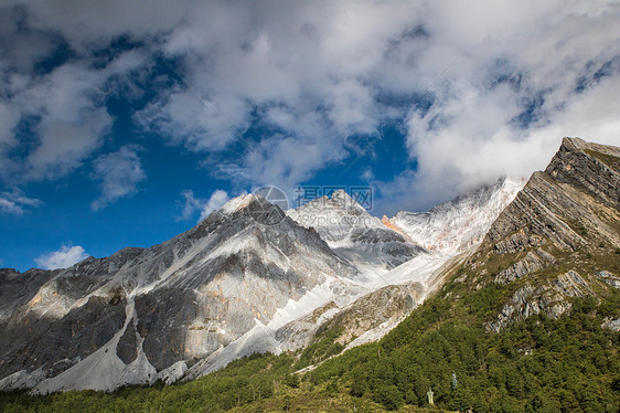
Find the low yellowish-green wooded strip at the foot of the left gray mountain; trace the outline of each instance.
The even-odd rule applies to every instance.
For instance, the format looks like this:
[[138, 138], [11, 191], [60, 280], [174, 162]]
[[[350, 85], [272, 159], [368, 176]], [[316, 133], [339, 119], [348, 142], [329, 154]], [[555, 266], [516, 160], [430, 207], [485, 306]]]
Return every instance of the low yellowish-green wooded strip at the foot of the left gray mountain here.
[[277, 381], [290, 371], [289, 356], [255, 354], [191, 382], [114, 393], [71, 391], [47, 396], [23, 392], [0, 395], [1, 412], [222, 412], [275, 394]]

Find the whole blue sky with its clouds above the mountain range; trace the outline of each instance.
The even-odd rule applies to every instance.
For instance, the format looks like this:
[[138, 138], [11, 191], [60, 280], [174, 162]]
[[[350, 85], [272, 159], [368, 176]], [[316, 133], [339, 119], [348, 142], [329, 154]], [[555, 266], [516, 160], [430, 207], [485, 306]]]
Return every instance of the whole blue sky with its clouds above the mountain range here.
[[190, 229], [261, 186], [421, 211], [620, 145], [617, 1], [4, 1], [0, 266]]

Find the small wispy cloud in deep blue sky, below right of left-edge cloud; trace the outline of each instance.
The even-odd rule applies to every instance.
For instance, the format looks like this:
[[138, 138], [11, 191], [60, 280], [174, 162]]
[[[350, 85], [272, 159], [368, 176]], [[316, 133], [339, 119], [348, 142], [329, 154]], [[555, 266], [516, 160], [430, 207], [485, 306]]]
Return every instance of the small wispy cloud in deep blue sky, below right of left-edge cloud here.
[[140, 150], [142, 147], [138, 145], [126, 145], [117, 152], [95, 159], [93, 178], [100, 181], [101, 197], [93, 202], [94, 211], [138, 191], [138, 183], [147, 179], [138, 156]]

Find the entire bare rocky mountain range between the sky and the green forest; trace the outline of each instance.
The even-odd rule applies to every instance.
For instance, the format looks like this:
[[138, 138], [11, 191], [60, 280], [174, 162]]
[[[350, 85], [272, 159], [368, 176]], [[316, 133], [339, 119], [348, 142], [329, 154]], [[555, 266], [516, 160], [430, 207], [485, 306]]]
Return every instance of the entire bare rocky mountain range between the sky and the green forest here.
[[441, 227], [423, 243], [440, 252], [343, 192], [286, 215], [246, 195], [150, 248], [54, 272], [0, 269], [0, 390], [173, 382], [255, 351], [308, 346], [336, 326], [342, 343], [378, 339], [426, 297], [434, 272], [483, 233], [470, 269], [510, 292], [489, 328], [542, 311], [557, 317], [570, 297], [620, 284], [609, 264], [620, 247], [617, 153], [568, 139], [505, 210], [519, 186], [503, 181], [435, 214], [411, 214], [408, 230]]

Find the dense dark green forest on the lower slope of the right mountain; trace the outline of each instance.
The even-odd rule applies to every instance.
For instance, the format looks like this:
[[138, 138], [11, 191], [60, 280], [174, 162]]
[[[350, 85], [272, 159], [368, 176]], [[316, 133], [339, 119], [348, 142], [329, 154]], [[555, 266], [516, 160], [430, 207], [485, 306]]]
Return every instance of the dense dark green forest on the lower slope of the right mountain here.
[[[577, 299], [557, 320], [533, 316], [501, 333], [481, 322], [495, 304], [495, 287], [446, 308], [431, 299], [381, 342], [329, 360], [312, 371], [316, 385], [338, 380], [354, 396], [372, 398], [386, 410], [404, 403], [477, 412], [617, 412], [620, 407], [620, 333], [602, 329], [618, 317], [620, 294], [597, 304]], [[451, 384], [456, 373], [458, 384]]]

